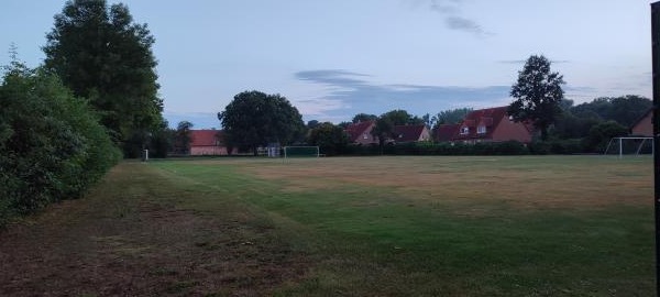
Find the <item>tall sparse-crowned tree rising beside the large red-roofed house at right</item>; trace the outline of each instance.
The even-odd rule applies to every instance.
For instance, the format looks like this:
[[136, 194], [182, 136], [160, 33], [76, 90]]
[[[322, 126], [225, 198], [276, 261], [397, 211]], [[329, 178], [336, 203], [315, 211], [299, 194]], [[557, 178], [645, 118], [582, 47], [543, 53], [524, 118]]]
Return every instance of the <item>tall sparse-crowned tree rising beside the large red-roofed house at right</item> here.
[[508, 107], [508, 114], [515, 121], [531, 121], [541, 132], [541, 140], [548, 139], [548, 128], [561, 112], [559, 103], [563, 99], [563, 76], [550, 72], [550, 61], [544, 56], [532, 55], [518, 72], [518, 81], [512, 87], [510, 96], [516, 100]]

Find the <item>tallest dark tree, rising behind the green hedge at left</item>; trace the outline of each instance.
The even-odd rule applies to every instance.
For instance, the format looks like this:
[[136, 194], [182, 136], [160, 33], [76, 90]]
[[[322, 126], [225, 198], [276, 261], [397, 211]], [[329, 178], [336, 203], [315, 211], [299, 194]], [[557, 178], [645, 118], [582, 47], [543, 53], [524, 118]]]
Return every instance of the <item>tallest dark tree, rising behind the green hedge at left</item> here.
[[154, 37], [146, 24], [134, 23], [121, 3], [69, 0], [46, 37], [46, 68], [76, 96], [89, 99], [128, 156], [143, 148], [146, 140], [130, 139], [147, 135], [163, 122]]

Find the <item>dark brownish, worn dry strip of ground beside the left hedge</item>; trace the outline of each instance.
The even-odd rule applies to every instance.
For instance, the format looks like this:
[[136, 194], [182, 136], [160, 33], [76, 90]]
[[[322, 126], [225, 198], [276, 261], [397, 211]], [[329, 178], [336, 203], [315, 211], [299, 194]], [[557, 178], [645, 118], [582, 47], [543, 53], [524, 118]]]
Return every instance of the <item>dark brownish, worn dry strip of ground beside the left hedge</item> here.
[[[196, 194], [156, 179], [122, 164], [87, 199], [10, 226], [0, 233], [0, 295], [262, 296], [305, 275], [306, 257], [274, 230], [244, 213], [179, 209], [177, 199]], [[168, 195], [178, 197], [156, 199]]]

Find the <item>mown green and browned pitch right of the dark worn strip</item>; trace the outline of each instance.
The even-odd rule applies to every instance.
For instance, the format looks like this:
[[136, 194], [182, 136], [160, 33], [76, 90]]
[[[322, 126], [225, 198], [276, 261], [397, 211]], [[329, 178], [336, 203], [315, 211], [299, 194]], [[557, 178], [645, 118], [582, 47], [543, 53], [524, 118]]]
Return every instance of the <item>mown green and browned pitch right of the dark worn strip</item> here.
[[[154, 162], [237, 201], [314, 258], [282, 295], [646, 296], [650, 158], [354, 157]], [[178, 182], [177, 182], [178, 180]]]

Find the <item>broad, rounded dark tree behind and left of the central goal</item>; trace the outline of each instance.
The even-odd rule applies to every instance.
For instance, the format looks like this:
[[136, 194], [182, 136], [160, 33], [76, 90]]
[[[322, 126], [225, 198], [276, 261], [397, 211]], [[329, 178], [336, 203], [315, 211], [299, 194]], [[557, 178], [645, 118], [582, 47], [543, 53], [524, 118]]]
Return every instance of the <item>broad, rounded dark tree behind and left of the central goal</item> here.
[[250, 148], [254, 154], [258, 146], [288, 145], [305, 134], [302, 117], [285, 97], [256, 90], [234, 96], [218, 119], [224, 128], [226, 143]]

